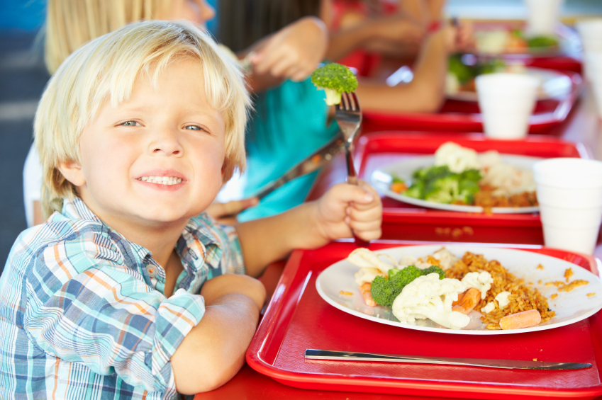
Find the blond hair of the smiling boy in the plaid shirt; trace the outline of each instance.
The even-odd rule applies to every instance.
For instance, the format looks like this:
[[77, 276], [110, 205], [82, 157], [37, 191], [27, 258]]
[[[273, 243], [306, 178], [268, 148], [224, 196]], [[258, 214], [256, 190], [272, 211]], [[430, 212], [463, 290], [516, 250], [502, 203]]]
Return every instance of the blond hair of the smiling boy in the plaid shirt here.
[[127, 101], [135, 80], [157, 76], [178, 60], [199, 62], [209, 105], [225, 118], [224, 182], [245, 168], [245, 125], [250, 98], [243, 73], [222, 54], [211, 37], [192, 23], [132, 23], [80, 47], [48, 82], [34, 120], [43, 183], [40, 203], [45, 217], [62, 210], [62, 200], [76, 195], [62, 176], [60, 162], [79, 162], [79, 137], [101, 105]]

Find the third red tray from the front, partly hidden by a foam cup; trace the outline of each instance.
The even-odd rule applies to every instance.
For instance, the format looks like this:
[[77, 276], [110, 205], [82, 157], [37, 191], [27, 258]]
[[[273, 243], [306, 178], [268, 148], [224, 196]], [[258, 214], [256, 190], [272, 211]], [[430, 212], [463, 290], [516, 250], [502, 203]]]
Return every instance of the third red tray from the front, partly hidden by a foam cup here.
[[[529, 133], [546, 134], [550, 128], [567, 119], [579, 96], [581, 76], [564, 71], [571, 77], [572, 91], [561, 99], [538, 101], [530, 117]], [[479, 105], [472, 101], [447, 100], [438, 113], [375, 113], [364, 111], [362, 132], [381, 130], [445, 130], [483, 132]]]

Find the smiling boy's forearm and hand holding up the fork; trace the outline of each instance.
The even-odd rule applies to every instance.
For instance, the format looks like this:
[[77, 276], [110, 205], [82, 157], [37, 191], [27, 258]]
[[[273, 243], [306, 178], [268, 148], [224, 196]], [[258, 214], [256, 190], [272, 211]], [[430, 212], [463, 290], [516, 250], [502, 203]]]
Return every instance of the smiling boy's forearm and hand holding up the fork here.
[[259, 276], [266, 265], [294, 248], [318, 248], [353, 234], [364, 240], [378, 239], [381, 222], [382, 205], [372, 188], [341, 183], [315, 202], [243, 222], [236, 229], [247, 274]]

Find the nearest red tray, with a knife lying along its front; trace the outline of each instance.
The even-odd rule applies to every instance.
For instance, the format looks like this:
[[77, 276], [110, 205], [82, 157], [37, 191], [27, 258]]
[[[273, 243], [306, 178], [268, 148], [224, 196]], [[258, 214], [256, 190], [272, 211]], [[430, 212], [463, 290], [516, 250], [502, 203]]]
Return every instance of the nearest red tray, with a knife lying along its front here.
[[[374, 242], [374, 250], [408, 242]], [[416, 243], [414, 243], [416, 244]], [[304, 389], [443, 396], [469, 399], [593, 399], [602, 394], [602, 316], [517, 335], [447, 335], [360, 319], [327, 304], [316, 291], [320, 271], [345, 258], [352, 243], [295, 251], [247, 350], [247, 363], [278, 382]], [[514, 247], [516, 248], [516, 247]], [[562, 258], [598, 275], [596, 259], [553, 248], [527, 251]], [[460, 358], [574, 360], [586, 370], [492, 370], [450, 365], [306, 361], [307, 348], [411, 353]]]

